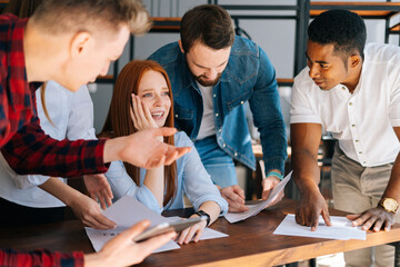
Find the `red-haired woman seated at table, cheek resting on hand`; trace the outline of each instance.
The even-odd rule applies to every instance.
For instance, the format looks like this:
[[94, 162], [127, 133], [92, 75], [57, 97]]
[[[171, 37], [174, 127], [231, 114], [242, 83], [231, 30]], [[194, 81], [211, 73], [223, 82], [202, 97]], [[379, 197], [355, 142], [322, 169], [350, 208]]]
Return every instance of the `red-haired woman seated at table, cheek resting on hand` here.
[[[129, 62], [117, 79], [102, 134], [120, 137], [163, 126], [173, 127], [172, 91], [167, 72], [154, 61]], [[188, 244], [193, 237], [198, 241], [204, 227], [228, 211], [228, 204], [184, 132], [167, 137], [164, 142], [190, 146], [191, 152], [170, 166], [148, 170], [114, 161], [106, 176], [114, 200], [128, 195], [158, 212], [183, 208], [184, 192], [197, 210], [192, 217], [206, 215], [208, 220], [187, 229], [178, 243]]]

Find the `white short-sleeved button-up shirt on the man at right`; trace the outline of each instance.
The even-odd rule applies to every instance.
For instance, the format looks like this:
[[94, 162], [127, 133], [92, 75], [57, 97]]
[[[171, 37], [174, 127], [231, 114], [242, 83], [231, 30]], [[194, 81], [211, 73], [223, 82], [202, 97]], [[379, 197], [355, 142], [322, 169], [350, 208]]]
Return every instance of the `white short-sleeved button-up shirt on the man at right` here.
[[363, 167], [393, 162], [400, 150], [393, 131], [400, 127], [400, 48], [367, 44], [352, 95], [343, 85], [321, 90], [303, 69], [294, 78], [290, 116], [290, 123], [322, 125]]

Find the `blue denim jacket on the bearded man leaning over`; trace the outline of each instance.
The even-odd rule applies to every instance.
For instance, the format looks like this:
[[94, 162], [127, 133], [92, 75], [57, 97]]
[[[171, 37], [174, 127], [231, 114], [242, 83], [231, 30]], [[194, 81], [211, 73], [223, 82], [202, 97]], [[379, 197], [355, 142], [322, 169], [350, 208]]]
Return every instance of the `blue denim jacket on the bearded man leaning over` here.
[[[178, 42], [160, 48], [149, 59], [159, 62], [171, 80], [176, 127], [196, 141], [202, 97]], [[260, 132], [266, 172], [279, 169], [283, 174], [287, 137], [277, 88], [276, 71], [266, 52], [254, 42], [236, 37], [227, 68], [212, 89], [217, 141], [232, 158], [256, 168], [242, 106], [249, 101]]]

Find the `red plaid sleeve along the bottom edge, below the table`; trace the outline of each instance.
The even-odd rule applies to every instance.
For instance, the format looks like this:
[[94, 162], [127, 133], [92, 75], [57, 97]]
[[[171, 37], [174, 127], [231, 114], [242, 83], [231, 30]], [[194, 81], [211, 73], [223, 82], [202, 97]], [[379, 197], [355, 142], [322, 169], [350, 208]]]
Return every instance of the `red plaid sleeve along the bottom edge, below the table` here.
[[3, 267], [83, 267], [83, 254], [61, 254], [48, 250], [22, 253], [0, 249], [0, 266]]

